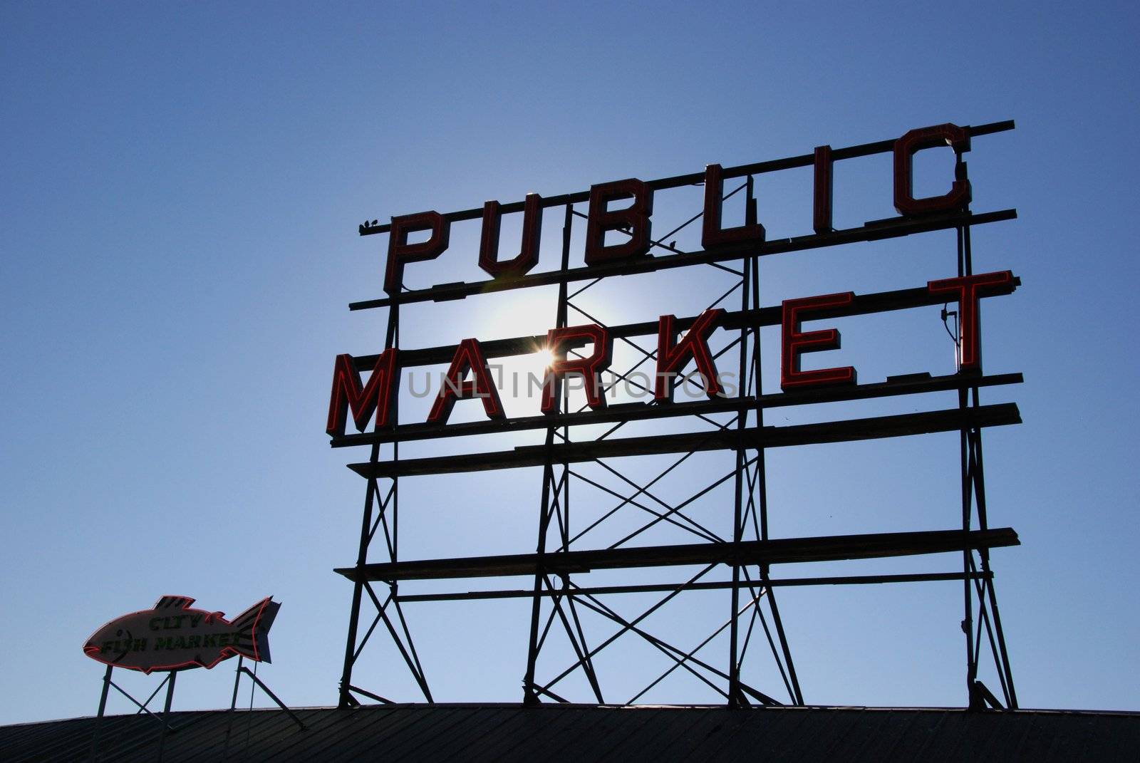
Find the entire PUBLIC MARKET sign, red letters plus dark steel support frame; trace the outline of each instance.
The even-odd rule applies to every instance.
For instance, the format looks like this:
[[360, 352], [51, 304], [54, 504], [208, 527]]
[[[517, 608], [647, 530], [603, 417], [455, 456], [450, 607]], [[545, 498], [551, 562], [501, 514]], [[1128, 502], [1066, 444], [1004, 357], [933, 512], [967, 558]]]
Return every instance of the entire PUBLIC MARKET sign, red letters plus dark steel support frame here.
[[[385, 308], [388, 310], [383, 352], [372, 356], [340, 356], [333, 383], [329, 408], [329, 435], [333, 447], [368, 447], [367, 461], [350, 464], [366, 481], [357, 559], [350, 567], [336, 571], [352, 581], [353, 594], [349, 617], [348, 638], [340, 684], [340, 705], [356, 706], [361, 700], [390, 701], [382, 691], [359, 685], [353, 668], [363, 650], [377, 628], [383, 625], [420, 687], [426, 701], [435, 701], [429, 685], [405, 615], [405, 604], [423, 601], [459, 601], [481, 599], [529, 598], [530, 626], [523, 669], [522, 700], [528, 704], [543, 700], [568, 701], [560, 693], [559, 683], [571, 674], [580, 673], [589, 687], [591, 701], [613, 704], [603, 690], [603, 676], [595, 665], [597, 654], [610, 648], [620, 636], [638, 636], [668, 658], [670, 666], [649, 682], [645, 689], [619, 704], [634, 704], [662, 679], [677, 669], [692, 674], [717, 692], [730, 706], [746, 705], [803, 705], [805, 704], [792, 648], [789, 642], [775, 591], [803, 585], [866, 585], [899, 582], [960, 582], [963, 598], [962, 630], [966, 641], [967, 705], [971, 708], [1016, 708], [1017, 693], [1010, 668], [1009, 655], [999, 614], [994, 575], [991, 568], [991, 549], [1016, 545], [1017, 534], [1004, 527], [991, 527], [985, 495], [985, 474], [982, 431], [987, 427], [1020, 423], [1015, 404], [983, 405], [979, 391], [984, 388], [1016, 384], [1021, 374], [986, 375], [982, 370], [977, 339], [977, 302], [1012, 293], [1020, 281], [1009, 271], [975, 274], [970, 230], [985, 225], [1017, 217], [1011, 209], [976, 213], [969, 209], [970, 190], [962, 153], [969, 151], [970, 139], [1013, 129], [1012, 121], [994, 122], [977, 127], [935, 125], [911, 130], [903, 137], [848, 148], [821, 146], [812, 154], [759, 162], [734, 168], [710, 165], [703, 173], [676, 176], [642, 182], [630, 179], [618, 184], [595, 186], [592, 192], [540, 197], [528, 195], [523, 202], [488, 202], [482, 208], [440, 214], [424, 212], [393, 218], [391, 225], [378, 221], [359, 227], [361, 236], [390, 234], [389, 262], [385, 271], [383, 298], [350, 305], [352, 310]], [[910, 159], [914, 152], [934, 145], [948, 145], [956, 156], [955, 174], [951, 192], [939, 203], [913, 198], [910, 188]], [[895, 203], [901, 214], [863, 226], [836, 230], [831, 220], [831, 168], [834, 162], [893, 153], [895, 161]], [[764, 228], [756, 214], [754, 178], [758, 174], [784, 169], [814, 168], [814, 233], [805, 236], [765, 240]], [[903, 169], [901, 169], [903, 168]], [[905, 174], [905, 177], [904, 177]], [[733, 182], [728, 182], [728, 181]], [[663, 236], [652, 234], [649, 219], [652, 213], [652, 192], [678, 188], [700, 182], [706, 187], [705, 205], [687, 221]], [[722, 184], [724, 187], [722, 188]], [[709, 186], [718, 192], [716, 197]], [[733, 189], [730, 189], [730, 186]], [[601, 188], [601, 190], [600, 190]], [[746, 221], [736, 228], [719, 228], [719, 204], [738, 193], [746, 195]], [[608, 212], [610, 197], [633, 196], [634, 204], [625, 213]], [[711, 200], [711, 201], [710, 201]], [[581, 205], [588, 204], [584, 213]], [[947, 209], [952, 206], [952, 209]], [[538, 260], [537, 226], [543, 210], [562, 209], [561, 262], [556, 269], [530, 273]], [[632, 210], [632, 211], [630, 211]], [[523, 212], [523, 241], [518, 255], [511, 251], [498, 259], [498, 220], [503, 213]], [[703, 247], [700, 251], [679, 251], [666, 243], [682, 228], [701, 218]], [[483, 220], [483, 236], [479, 246], [479, 263], [492, 277], [489, 281], [461, 282], [407, 290], [402, 285], [405, 265], [438, 257], [448, 245], [448, 226], [453, 221]], [[576, 225], [587, 226], [585, 267], [571, 267], [571, 236]], [[605, 229], [628, 230], [628, 246], [612, 247], [610, 257], [604, 246]], [[426, 241], [408, 244], [408, 233], [427, 230]], [[828, 299], [792, 300], [799, 302], [764, 306], [760, 303], [759, 269], [763, 258], [769, 254], [804, 251], [852, 242], [871, 242], [921, 234], [933, 230], [956, 233], [956, 275], [933, 281], [926, 286], [870, 294], [838, 294]], [[603, 233], [600, 233], [603, 232]], [[592, 243], [593, 242], [593, 243]], [[650, 252], [651, 255], [644, 255]], [[513, 250], [512, 250], [513, 251]], [[667, 360], [668, 342], [677, 332], [694, 325], [699, 330], [705, 312], [661, 322], [608, 325], [587, 315], [576, 299], [605, 278], [679, 268], [715, 267], [734, 276], [734, 285], [708, 305], [716, 314], [718, 331], [731, 332], [733, 339], [709, 360], [731, 360], [740, 384], [732, 397], [711, 396], [707, 400], [666, 401], [662, 405], [637, 404], [613, 407], [584, 407], [570, 409], [569, 393], [551, 393], [543, 409], [534, 415], [506, 417], [496, 408], [497, 396], [488, 401], [479, 395], [486, 380], [478, 368], [487, 358], [510, 357], [535, 351], [555, 335], [573, 334], [571, 315], [580, 315], [589, 325], [600, 327], [597, 336], [605, 342], [622, 342], [633, 347], [641, 359], [622, 373], [611, 370], [627, 382], [630, 374], [645, 363]], [[940, 275], [940, 274], [939, 274]], [[492, 339], [471, 344], [412, 348], [400, 346], [400, 309], [405, 305], [465, 299], [530, 286], [557, 286], [555, 322], [549, 334]], [[728, 300], [739, 301], [730, 305]], [[963, 352], [959, 371], [954, 374], [931, 376], [911, 374], [888, 378], [885, 382], [857, 383], [854, 371], [844, 368], [799, 373], [790, 371], [796, 360], [795, 344], [800, 351], [822, 349], [838, 342], [826, 331], [800, 332], [797, 309], [812, 309], [812, 318], [863, 315], [910, 307], [959, 302], [962, 318], [961, 335], [956, 338]], [[790, 317], [789, 317], [790, 316]], [[711, 325], [711, 324], [710, 324]], [[760, 389], [760, 328], [782, 326], [783, 360], [782, 391], [765, 393]], [[832, 330], [833, 331], [833, 330]], [[971, 334], [972, 332], [972, 334]], [[699, 333], [699, 332], [694, 332]], [[668, 339], [669, 334], [673, 339]], [[657, 346], [641, 338], [658, 336]], [[465, 340], [465, 342], [474, 340]], [[602, 340], [595, 338], [595, 354]], [[641, 343], [640, 343], [641, 342]], [[591, 343], [589, 338], [578, 336], [563, 348], [561, 357], [577, 358], [579, 365], [586, 356], [579, 349]], [[793, 350], [789, 354], [789, 344]], [[692, 348], [690, 348], [692, 349]], [[967, 355], [967, 350], [972, 355]], [[695, 352], [687, 358], [695, 358]], [[461, 356], [465, 358], [461, 363]], [[790, 358], [790, 359], [789, 359]], [[454, 378], [455, 393], [448, 400], [441, 392], [429, 421], [402, 422], [398, 415], [398, 396], [388, 393], [401, 368], [451, 362], [449, 378]], [[679, 364], [684, 366], [685, 358]], [[700, 363], [700, 362], [699, 362]], [[675, 364], [676, 365], [676, 364]], [[594, 366], [596, 367], [596, 366]], [[798, 366], [797, 366], [798, 367]], [[467, 371], [474, 372], [473, 381], [464, 381]], [[360, 372], [373, 372], [367, 384], [361, 384]], [[847, 373], [850, 371], [850, 373]], [[813, 375], [814, 374], [814, 375]], [[689, 379], [692, 374], [689, 375]], [[685, 378], [682, 378], [684, 383]], [[486, 391], [486, 390], [484, 390]], [[651, 397], [661, 398], [660, 390], [648, 389]], [[814, 424], [776, 427], [765, 422], [765, 414], [781, 406], [812, 405], [842, 400], [861, 400], [895, 396], [955, 391], [956, 406], [923, 413], [874, 416], [855, 420], [829, 421]], [[457, 397], [456, 397], [457, 396]], [[487, 407], [484, 420], [446, 423], [450, 404], [463, 396], [483, 397]], [[604, 400], [602, 400], [604, 403]], [[372, 431], [345, 432], [345, 423], [355, 421], [359, 429], [375, 413], [376, 425]], [[712, 419], [727, 415], [726, 422]], [[686, 417], [710, 425], [710, 430], [657, 437], [610, 437], [630, 422]], [[573, 428], [589, 424], [612, 424], [604, 435], [587, 439], [572, 439]], [[462, 453], [448, 456], [401, 458], [400, 444], [437, 438], [494, 435], [506, 431], [544, 431], [542, 445], [520, 446], [510, 451]], [[934, 531], [891, 533], [878, 535], [845, 535], [803, 538], [774, 538], [768, 531], [768, 503], [765, 454], [769, 448], [806, 444], [840, 443], [861, 439], [907, 437], [928, 432], [959, 432], [959, 473], [961, 486], [961, 523], [958, 527]], [[382, 457], [382, 446], [386, 448]], [[716, 474], [707, 484], [684, 496], [671, 496], [660, 490], [659, 480], [695, 453], [722, 451], [734, 454], [734, 468]], [[633, 479], [608, 463], [608, 460], [627, 456], [667, 457], [666, 465], [652, 479]], [[594, 464], [620, 480], [621, 490], [606, 487], [583, 473], [578, 464]], [[537, 466], [543, 470], [542, 493], [538, 498], [537, 543], [532, 553], [469, 557], [455, 559], [412, 559], [400, 554], [399, 546], [399, 482], [401, 479], [449, 472]], [[611, 495], [617, 506], [591, 527], [606, 520], [616, 512], [635, 509], [652, 517], [641, 529], [619, 538], [608, 549], [581, 547], [576, 542], [584, 531], [571, 530], [571, 485], [585, 482], [592, 488]], [[732, 535], [720, 537], [701, 526], [686, 506], [712, 489], [731, 485], [733, 489]], [[691, 533], [700, 543], [659, 546], [628, 545], [645, 529], [668, 522]], [[780, 563], [830, 561], [840, 559], [873, 559], [954, 552], [961, 554], [961, 567], [953, 571], [931, 570], [918, 574], [878, 574], [815, 577], [779, 577], [772, 567]], [[377, 558], [378, 557], [378, 558]], [[682, 576], [675, 583], [591, 585], [580, 584], [591, 570], [691, 567], [695, 574]], [[731, 570], [731, 579], [710, 581], [717, 568]], [[410, 579], [466, 579], [498, 576], [526, 576], [527, 587], [518, 585], [489, 591], [454, 591], [429, 594], [400, 593], [401, 581]], [[577, 579], [576, 579], [577, 578]], [[687, 591], [727, 590], [731, 606], [723, 623], [717, 623], [705, 641], [695, 648], [670, 643], [658, 633], [650, 632], [643, 620], [678, 594]], [[620, 615], [605, 602], [605, 596], [622, 593], [658, 594], [659, 598], [636, 617]], [[370, 622], [364, 615], [365, 600], [369, 602]], [[585, 612], [593, 612], [617, 627], [606, 638], [596, 638], [584, 627]], [[553, 630], [564, 632], [577, 659], [561, 672], [542, 674], [539, 658]], [[728, 632], [727, 659], [717, 660], [699, 656], [710, 641]], [[760, 633], [763, 632], [763, 636]], [[779, 671], [787, 699], [776, 699], [760, 687], [750, 685], [742, 677], [742, 666], [750, 648], [766, 642]], [[979, 665], [992, 660], [1000, 684], [997, 693], [978, 679]], [[773, 692], [775, 693], [775, 692]], [[1000, 695], [1000, 696], [999, 696]]]

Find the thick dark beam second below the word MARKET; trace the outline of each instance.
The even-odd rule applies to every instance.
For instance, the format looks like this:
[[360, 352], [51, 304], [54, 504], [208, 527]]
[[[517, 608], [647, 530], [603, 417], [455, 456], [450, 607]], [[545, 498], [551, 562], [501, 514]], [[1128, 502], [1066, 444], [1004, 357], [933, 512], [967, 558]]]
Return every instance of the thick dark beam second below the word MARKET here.
[[547, 462], [581, 463], [595, 458], [661, 455], [666, 453], [697, 453], [730, 448], [774, 448], [821, 443], [847, 443], [907, 435], [948, 432], [978, 427], [1001, 427], [1021, 423], [1015, 403], [983, 405], [971, 408], [947, 408], [894, 416], [872, 416], [829, 421], [819, 424], [763, 427], [735, 430], [685, 432], [649, 437], [626, 437], [583, 443], [559, 443], [547, 449], [545, 445], [519, 446], [513, 451], [466, 453], [453, 456], [404, 458], [349, 464], [349, 469], [366, 478], [415, 477], [457, 472], [488, 471], [540, 466]]

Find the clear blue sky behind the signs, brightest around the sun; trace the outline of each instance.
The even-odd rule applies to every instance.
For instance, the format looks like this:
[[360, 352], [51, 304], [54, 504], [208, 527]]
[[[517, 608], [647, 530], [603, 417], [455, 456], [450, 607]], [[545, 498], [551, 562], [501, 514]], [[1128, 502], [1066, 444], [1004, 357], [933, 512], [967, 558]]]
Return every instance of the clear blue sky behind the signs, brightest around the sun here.
[[[103, 669], [84, 639], [162, 594], [229, 615], [274, 594], [260, 674], [292, 705], [335, 703], [351, 585], [332, 568], [355, 560], [364, 497], [343, 464], [367, 454], [331, 451], [324, 417], [334, 356], [381, 349], [385, 318], [347, 309], [381, 295], [385, 237], [360, 221], [1005, 119], [1017, 129], [967, 160], [974, 209], [1019, 213], [974, 240], [979, 270], [1023, 278], [986, 312], [987, 371], [1026, 378], [985, 396], [1025, 420], [986, 437], [991, 523], [1023, 541], [994, 553], [1010, 659], [1024, 707], [1140, 709], [1137, 18], [1040, 2], [0, 5], [0, 723], [92, 714]], [[837, 222], [894, 214], [883, 165], [852, 167]], [[806, 179], [760, 184], [769, 234], [809, 232]], [[678, 210], [662, 197], [660, 225]], [[475, 233], [457, 227], [450, 259], [409, 283], [473, 277]], [[769, 259], [766, 305], [951, 276], [953, 237]], [[630, 279], [610, 315], [685, 315], [718, 283]], [[406, 346], [553, 325], [549, 302], [434, 307]], [[844, 323], [842, 357], [862, 381], [946, 373], [937, 309], [917, 320], [893, 342], [887, 324]], [[928, 440], [774, 456], [773, 534], [953, 527], [958, 439]], [[532, 549], [537, 471], [407, 485], [405, 558]], [[726, 506], [705, 516], [723, 527]], [[808, 703], [964, 701], [959, 586], [780, 601]], [[409, 607], [437, 699], [519, 699], [523, 604]], [[661, 627], [692, 641], [726, 612], [694, 600]], [[603, 667], [645, 683], [660, 660], [644, 655]], [[186, 674], [174, 706], [225, 706], [231, 666]], [[361, 671], [417, 699], [383, 648]], [[780, 696], [762, 654], [755, 671]], [[674, 679], [650, 699], [715, 699]]]

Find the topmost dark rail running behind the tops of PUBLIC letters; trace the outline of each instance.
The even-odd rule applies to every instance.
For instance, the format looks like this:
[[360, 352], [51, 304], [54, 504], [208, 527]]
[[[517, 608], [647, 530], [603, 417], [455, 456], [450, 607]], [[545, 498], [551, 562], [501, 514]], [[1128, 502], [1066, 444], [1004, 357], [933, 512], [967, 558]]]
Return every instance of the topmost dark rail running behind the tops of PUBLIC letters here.
[[[992, 135], [994, 132], [1004, 132], [1005, 130], [1012, 130], [1015, 128], [1013, 120], [1005, 120], [1003, 122], [990, 122], [987, 124], [978, 124], [975, 127], [964, 125], [964, 129], [970, 137]], [[891, 138], [889, 140], [876, 140], [874, 143], [864, 143], [857, 146], [847, 146], [844, 148], [832, 148], [831, 149], [831, 161], [838, 162], [845, 159], [857, 159], [860, 156], [872, 156], [874, 154], [882, 154], [888, 151], [894, 151], [895, 141], [897, 138]], [[789, 156], [787, 159], [773, 159], [765, 162], [755, 162], [752, 164], [740, 164], [736, 167], [726, 167], [720, 172], [723, 178], [740, 178], [746, 174], [764, 174], [765, 172], [777, 172], [780, 170], [790, 170], [797, 167], [812, 167], [815, 162], [815, 154], [800, 154], [799, 156]], [[687, 174], [675, 174], [671, 178], [660, 178], [658, 180], [650, 180], [646, 185], [653, 190], [665, 190], [666, 188], [681, 188], [683, 186], [695, 186], [705, 182], [703, 172], [690, 172]], [[563, 204], [577, 204], [589, 200], [588, 190], [579, 190], [573, 194], [561, 194], [559, 196], [545, 196], [543, 197], [543, 206], [561, 206]], [[511, 202], [508, 204], [502, 204], [499, 211], [503, 214], [511, 212], [521, 212], [524, 202]], [[479, 206], [477, 209], [462, 210], [459, 212], [447, 212], [443, 214], [443, 219], [451, 222], [459, 222], [462, 220], [479, 220], [483, 216], [483, 208]], [[391, 224], [375, 225], [367, 228], [360, 228], [359, 233], [361, 236], [372, 236], [377, 233], [389, 233], [392, 229]]]

